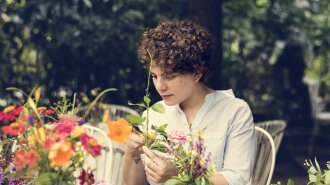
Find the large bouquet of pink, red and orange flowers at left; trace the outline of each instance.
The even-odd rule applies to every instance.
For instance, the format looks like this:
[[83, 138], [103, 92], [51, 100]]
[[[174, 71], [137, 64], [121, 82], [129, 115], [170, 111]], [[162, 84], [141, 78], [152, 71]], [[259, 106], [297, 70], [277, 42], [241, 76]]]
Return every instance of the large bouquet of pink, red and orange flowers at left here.
[[[100, 93], [90, 107], [113, 90]], [[2, 132], [8, 136], [1, 148], [8, 142], [16, 143], [12, 154], [8, 154], [9, 151], [1, 155], [0, 184], [76, 184], [74, 174], [76, 169], [82, 169], [84, 156], [97, 157], [105, 149], [82, 127], [88, 111], [84, 117], [76, 115], [75, 96], [73, 103], [63, 98], [55, 106], [46, 108], [39, 106], [40, 87], [30, 95], [20, 92], [27, 97], [27, 102], [0, 112], [0, 121], [5, 125]], [[82, 169], [79, 179], [81, 184], [93, 184], [93, 172]]]

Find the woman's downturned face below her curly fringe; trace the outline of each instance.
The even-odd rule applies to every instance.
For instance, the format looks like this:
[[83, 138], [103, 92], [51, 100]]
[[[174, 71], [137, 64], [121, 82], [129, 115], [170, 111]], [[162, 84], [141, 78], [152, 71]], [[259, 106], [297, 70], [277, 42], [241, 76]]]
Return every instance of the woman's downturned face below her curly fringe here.
[[199, 80], [193, 73], [169, 73], [154, 66], [151, 69], [151, 76], [157, 92], [166, 105], [176, 105], [187, 100], [196, 87]]

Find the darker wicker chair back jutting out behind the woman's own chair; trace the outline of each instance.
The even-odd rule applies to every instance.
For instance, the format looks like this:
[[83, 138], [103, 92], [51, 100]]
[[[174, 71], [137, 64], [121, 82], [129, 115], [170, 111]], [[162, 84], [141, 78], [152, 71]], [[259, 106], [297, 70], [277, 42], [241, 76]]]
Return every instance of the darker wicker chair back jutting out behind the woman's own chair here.
[[269, 120], [256, 123], [256, 126], [265, 129], [273, 137], [277, 153], [282, 142], [286, 122], [284, 120]]

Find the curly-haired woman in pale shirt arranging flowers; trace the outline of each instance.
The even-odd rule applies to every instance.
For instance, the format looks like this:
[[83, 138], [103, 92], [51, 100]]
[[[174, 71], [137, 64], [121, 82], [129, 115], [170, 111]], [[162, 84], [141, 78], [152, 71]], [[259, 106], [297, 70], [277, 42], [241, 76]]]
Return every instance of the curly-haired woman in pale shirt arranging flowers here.
[[[139, 60], [148, 68], [150, 52], [153, 83], [165, 107], [164, 114], [150, 110], [149, 123], [167, 123], [167, 132], [204, 130], [206, 149], [217, 170], [211, 177], [213, 184], [247, 184], [256, 152], [252, 114], [231, 91], [216, 91], [204, 84], [211, 51], [211, 35], [191, 21], [161, 23], [143, 34]], [[137, 132], [127, 142], [123, 170], [127, 185], [164, 183], [178, 174], [170, 160], [143, 142]]]

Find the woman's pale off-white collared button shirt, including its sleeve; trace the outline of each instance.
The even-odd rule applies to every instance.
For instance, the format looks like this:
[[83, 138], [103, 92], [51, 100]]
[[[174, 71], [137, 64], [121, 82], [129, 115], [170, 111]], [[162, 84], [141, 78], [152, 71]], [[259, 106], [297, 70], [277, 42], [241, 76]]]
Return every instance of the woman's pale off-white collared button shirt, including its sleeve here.
[[[173, 130], [189, 133], [189, 124], [181, 108], [162, 103], [164, 114], [149, 110], [149, 126], [167, 123], [167, 133]], [[235, 98], [231, 90], [210, 93], [191, 128], [192, 132], [204, 130], [206, 153], [211, 152], [211, 162], [229, 185], [248, 183], [257, 144], [252, 113], [245, 101]], [[156, 185], [150, 180], [149, 183]]]

